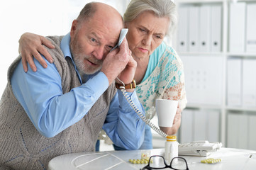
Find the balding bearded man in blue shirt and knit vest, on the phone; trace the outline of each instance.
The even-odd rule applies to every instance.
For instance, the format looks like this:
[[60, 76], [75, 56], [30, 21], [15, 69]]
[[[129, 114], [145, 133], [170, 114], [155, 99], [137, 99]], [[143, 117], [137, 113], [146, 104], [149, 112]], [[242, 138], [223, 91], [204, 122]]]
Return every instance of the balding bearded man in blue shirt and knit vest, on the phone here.
[[[136, 69], [127, 40], [110, 52], [123, 28], [111, 6], [89, 3], [64, 37], [49, 37], [52, 64], [23, 72], [21, 56], [9, 67], [0, 106], [0, 169], [47, 169], [60, 154], [94, 151], [103, 128], [119, 147], [138, 149], [145, 123], [116, 89]], [[117, 81], [116, 83], [121, 84]], [[144, 113], [133, 86], [130, 98]]]

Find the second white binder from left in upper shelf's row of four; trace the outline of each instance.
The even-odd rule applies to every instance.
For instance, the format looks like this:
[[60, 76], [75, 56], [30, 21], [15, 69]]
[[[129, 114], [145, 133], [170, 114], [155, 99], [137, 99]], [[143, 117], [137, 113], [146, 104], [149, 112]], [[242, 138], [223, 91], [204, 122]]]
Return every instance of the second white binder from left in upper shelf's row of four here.
[[199, 52], [199, 6], [189, 6], [189, 52]]

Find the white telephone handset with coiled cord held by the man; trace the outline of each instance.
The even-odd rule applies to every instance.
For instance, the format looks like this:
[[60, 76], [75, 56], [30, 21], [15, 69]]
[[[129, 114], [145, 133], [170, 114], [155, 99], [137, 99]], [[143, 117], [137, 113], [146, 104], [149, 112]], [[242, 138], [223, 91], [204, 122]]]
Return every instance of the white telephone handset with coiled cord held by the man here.
[[[119, 40], [118, 43], [116, 44], [115, 47], [112, 48], [112, 50], [116, 49], [116, 47], [119, 47], [121, 45], [121, 43], [123, 42], [123, 39], [126, 37], [126, 34], [128, 32], [127, 28], [123, 28], [121, 30], [120, 36], [119, 36]], [[111, 51], [112, 51], [111, 50]], [[116, 77], [116, 79], [118, 79], [118, 77]], [[118, 79], [119, 81], [121, 81], [120, 79]], [[123, 81], [121, 81], [123, 83]], [[126, 92], [126, 88], [124, 86], [120, 86], [121, 91], [123, 93], [123, 96], [125, 96], [126, 101], [128, 101], [128, 103], [130, 104], [130, 106], [133, 108], [133, 110], [138, 114], [138, 116], [140, 116], [140, 118], [147, 123], [150, 128], [152, 128], [153, 130], [155, 130], [155, 132], [157, 132], [158, 134], [160, 134], [162, 137], [167, 137], [167, 134], [165, 132], [162, 132], [162, 130], [160, 130], [160, 128], [157, 128], [153, 123], [150, 122], [150, 120], [148, 120], [148, 118], [145, 117], [145, 115], [143, 115], [143, 113], [141, 113], [139, 111], [139, 109], [135, 106], [135, 104], [133, 103], [133, 101], [131, 100], [130, 96], [127, 94]]]

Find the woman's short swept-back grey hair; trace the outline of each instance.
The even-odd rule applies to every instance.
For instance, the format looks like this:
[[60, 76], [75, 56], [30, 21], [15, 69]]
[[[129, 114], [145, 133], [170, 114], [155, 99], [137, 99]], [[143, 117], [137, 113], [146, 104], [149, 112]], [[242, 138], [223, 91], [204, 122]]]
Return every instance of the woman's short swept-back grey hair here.
[[126, 12], [123, 14], [125, 23], [133, 21], [140, 13], [153, 11], [158, 17], [169, 18], [167, 35], [172, 35], [177, 26], [177, 8], [171, 0], [131, 0]]

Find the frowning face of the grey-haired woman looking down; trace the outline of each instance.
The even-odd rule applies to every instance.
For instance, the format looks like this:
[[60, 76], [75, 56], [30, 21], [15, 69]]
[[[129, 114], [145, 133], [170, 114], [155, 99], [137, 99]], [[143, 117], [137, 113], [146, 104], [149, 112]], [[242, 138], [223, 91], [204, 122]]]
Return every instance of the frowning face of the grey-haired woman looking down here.
[[125, 24], [126, 38], [135, 58], [149, 57], [162, 43], [169, 28], [169, 18], [159, 18], [152, 11], [145, 11]]

